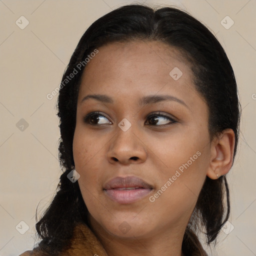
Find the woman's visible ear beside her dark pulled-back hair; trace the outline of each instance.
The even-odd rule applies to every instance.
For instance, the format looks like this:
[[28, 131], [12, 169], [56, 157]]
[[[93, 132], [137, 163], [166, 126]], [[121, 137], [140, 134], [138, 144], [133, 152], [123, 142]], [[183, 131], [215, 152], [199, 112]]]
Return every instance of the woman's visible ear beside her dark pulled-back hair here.
[[217, 179], [226, 174], [233, 163], [235, 135], [230, 128], [223, 130], [211, 141], [207, 176]]

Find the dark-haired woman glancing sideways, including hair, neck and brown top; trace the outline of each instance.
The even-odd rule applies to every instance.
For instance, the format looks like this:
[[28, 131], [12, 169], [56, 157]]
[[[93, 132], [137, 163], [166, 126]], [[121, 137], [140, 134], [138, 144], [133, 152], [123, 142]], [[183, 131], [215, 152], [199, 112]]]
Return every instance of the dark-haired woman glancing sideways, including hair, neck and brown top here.
[[[63, 174], [25, 255], [207, 255], [229, 216], [240, 105], [189, 14], [132, 4], [81, 37], [58, 97]], [[225, 200], [222, 198], [225, 195]]]

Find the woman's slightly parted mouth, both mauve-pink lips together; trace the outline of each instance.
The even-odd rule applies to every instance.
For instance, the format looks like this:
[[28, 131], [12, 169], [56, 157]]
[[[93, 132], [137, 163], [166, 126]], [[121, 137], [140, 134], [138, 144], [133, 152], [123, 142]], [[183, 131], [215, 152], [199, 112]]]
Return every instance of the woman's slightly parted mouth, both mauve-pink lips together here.
[[103, 190], [107, 197], [120, 204], [129, 204], [148, 195], [152, 186], [135, 177], [115, 177], [107, 182]]

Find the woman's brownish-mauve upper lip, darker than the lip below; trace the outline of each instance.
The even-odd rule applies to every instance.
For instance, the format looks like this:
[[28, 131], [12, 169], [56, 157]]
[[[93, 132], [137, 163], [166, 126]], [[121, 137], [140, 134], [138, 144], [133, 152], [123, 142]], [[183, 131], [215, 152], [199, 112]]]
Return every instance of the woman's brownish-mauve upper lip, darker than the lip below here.
[[104, 186], [103, 189], [113, 189], [118, 187], [141, 187], [141, 188], [152, 188], [150, 184], [141, 178], [135, 176], [127, 177], [114, 177], [110, 179]]

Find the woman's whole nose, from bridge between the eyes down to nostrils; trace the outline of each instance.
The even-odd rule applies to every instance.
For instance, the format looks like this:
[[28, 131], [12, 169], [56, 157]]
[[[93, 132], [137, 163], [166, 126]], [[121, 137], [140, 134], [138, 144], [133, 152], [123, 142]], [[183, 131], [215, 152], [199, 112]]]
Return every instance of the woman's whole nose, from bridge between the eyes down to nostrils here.
[[135, 124], [129, 122], [126, 118], [123, 118], [116, 125], [116, 133], [107, 152], [109, 161], [128, 163], [134, 160], [136, 162], [145, 160], [146, 151], [142, 142], [138, 139], [136, 131]]

